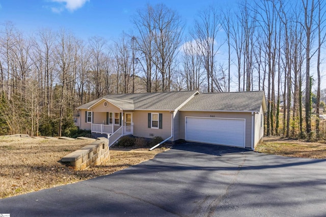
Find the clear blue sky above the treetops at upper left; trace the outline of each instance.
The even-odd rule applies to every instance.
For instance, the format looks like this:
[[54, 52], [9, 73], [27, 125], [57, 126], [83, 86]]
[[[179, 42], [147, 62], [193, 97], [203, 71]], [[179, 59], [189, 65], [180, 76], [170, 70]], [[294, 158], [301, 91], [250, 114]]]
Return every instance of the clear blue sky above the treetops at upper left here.
[[0, 0], [0, 22], [12, 21], [24, 33], [38, 28], [70, 29], [78, 38], [87, 40], [101, 36], [107, 40], [118, 38], [132, 29], [131, 17], [137, 10], [164, 3], [177, 11], [186, 22], [186, 31], [199, 10], [211, 4], [230, 6], [233, 0]]

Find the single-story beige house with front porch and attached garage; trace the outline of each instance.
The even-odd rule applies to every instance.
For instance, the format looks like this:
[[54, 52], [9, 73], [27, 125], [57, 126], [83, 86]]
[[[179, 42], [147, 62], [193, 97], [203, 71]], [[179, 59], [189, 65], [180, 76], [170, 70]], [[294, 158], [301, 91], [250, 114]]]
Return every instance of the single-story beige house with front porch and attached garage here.
[[107, 95], [77, 109], [76, 125], [109, 145], [131, 134], [254, 149], [266, 102], [264, 91], [178, 91]]

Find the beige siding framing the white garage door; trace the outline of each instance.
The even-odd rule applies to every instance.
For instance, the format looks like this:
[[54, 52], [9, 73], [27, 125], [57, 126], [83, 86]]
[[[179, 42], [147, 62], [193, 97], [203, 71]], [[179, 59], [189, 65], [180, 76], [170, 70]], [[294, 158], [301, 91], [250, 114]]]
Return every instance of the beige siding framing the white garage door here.
[[239, 118], [246, 119], [246, 148], [251, 148], [251, 113], [240, 112], [201, 112], [201, 111], [181, 111], [180, 114], [180, 139], [184, 139], [185, 117], [214, 117], [214, 118]]

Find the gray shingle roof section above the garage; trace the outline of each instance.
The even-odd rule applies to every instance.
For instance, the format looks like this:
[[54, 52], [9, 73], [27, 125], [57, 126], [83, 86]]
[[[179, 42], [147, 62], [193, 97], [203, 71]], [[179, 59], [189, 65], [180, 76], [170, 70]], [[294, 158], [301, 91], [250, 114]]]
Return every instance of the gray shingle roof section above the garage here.
[[259, 112], [264, 91], [215, 92], [198, 94], [180, 108], [180, 111], [251, 111]]

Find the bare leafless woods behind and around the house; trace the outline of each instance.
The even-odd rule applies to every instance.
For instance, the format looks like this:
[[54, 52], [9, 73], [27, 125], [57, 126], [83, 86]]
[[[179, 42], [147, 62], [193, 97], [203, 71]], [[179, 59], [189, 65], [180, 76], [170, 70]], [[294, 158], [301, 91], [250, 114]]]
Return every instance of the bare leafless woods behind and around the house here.
[[[114, 41], [67, 29], [0, 28], [0, 134], [69, 135], [79, 105], [108, 94], [264, 90], [265, 134], [325, 137], [325, 1], [210, 6], [189, 29], [165, 5]], [[222, 102], [223, 103], [223, 102]]]

